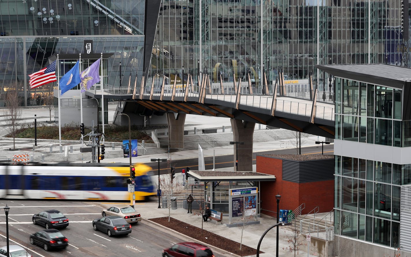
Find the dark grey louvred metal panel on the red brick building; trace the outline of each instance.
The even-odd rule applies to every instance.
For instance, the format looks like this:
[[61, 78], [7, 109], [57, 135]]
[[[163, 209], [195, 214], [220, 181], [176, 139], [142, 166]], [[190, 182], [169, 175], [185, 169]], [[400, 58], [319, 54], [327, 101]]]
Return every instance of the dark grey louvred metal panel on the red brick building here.
[[296, 183], [334, 179], [334, 159], [298, 162], [283, 160], [283, 180]]

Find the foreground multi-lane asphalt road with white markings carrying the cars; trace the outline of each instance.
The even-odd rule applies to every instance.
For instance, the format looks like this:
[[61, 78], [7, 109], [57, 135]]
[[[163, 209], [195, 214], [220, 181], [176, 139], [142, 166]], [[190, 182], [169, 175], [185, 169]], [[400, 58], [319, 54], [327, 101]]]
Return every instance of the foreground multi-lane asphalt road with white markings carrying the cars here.
[[[20, 244], [28, 248], [33, 257], [73, 256], [161, 256], [162, 249], [171, 247], [181, 240], [141, 222], [132, 224], [132, 233], [127, 236], [109, 237], [94, 231], [92, 220], [101, 218], [104, 206], [96, 202], [81, 201], [10, 201], [0, 200], [0, 206], [8, 205], [10, 245]], [[69, 218], [69, 226], [60, 232], [69, 239], [65, 250], [48, 251], [29, 243], [32, 233], [45, 229], [32, 223], [32, 215], [48, 209], [57, 209]], [[0, 214], [0, 247], [6, 243], [5, 214]], [[216, 257], [222, 255], [215, 254]]]

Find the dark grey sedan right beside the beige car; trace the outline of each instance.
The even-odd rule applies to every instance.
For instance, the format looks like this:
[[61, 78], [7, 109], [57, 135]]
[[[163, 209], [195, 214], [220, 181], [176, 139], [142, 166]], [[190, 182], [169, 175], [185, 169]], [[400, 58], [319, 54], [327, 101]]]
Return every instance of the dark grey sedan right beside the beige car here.
[[131, 225], [127, 221], [118, 216], [107, 216], [93, 220], [94, 230], [100, 230], [113, 235], [127, 235], [131, 233]]

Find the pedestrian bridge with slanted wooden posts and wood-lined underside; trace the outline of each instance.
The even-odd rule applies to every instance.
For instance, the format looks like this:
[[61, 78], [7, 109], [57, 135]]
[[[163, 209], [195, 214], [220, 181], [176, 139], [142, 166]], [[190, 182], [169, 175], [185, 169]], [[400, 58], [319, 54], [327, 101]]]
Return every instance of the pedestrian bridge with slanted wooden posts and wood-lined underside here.
[[[261, 123], [273, 127], [334, 138], [332, 93], [296, 85], [255, 88], [250, 83], [207, 83], [187, 85], [134, 86], [104, 85], [104, 98], [127, 101], [118, 109], [159, 113], [185, 113]], [[306, 80], [308, 81], [308, 80]], [[237, 85], [237, 83], [236, 83]], [[267, 93], [266, 93], [267, 92]], [[87, 95], [100, 98], [102, 91], [91, 88]], [[133, 111], [134, 111], [133, 110]]]

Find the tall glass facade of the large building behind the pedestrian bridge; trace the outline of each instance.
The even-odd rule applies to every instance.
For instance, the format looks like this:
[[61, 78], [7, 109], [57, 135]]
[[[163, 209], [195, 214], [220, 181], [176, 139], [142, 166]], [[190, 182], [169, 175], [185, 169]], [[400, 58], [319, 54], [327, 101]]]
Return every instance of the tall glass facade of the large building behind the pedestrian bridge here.
[[[251, 82], [270, 90], [278, 69], [307, 79], [314, 65], [393, 63], [401, 19], [398, 0], [165, 0], [159, 13], [151, 77], [158, 87], [209, 74], [212, 83]], [[408, 13], [408, 12], [406, 12]], [[183, 77], [183, 79], [181, 79]], [[323, 79], [314, 81], [321, 83]], [[363, 123], [366, 120], [362, 121]]]

